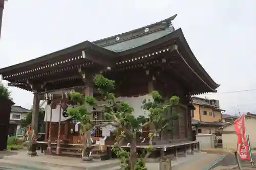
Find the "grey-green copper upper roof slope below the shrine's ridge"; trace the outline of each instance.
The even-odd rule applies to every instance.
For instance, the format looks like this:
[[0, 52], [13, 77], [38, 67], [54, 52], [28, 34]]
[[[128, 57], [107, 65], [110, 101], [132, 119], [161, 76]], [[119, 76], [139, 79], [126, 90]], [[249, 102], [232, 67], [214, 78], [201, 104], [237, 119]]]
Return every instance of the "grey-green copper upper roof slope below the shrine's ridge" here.
[[167, 27], [164, 30], [156, 31], [151, 34], [146, 34], [137, 38], [133, 38], [130, 40], [126, 40], [120, 43], [115, 43], [107, 46], [103, 46], [103, 48], [106, 48], [108, 50], [111, 50], [113, 52], [123, 52], [126, 50], [130, 50], [132, 48], [141, 46], [143, 44], [146, 44], [148, 42], [154, 41], [156, 39], [159, 39], [169, 33], [172, 33], [174, 31], [174, 27]]

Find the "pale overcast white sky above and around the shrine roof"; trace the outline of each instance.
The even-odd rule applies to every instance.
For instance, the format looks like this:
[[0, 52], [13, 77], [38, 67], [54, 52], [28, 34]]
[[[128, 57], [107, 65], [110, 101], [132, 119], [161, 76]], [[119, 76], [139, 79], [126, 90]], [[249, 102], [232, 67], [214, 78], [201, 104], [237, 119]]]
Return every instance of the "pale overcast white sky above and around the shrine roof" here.
[[[196, 58], [221, 86], [217, 99], [228, 114], [256, 113], [256, 1], [253, 0], [9, 0], [5, 3], [0, 67], [134, 30], [178, 14]], [[7, 82], [4, 81], [5, 84]], [[9, 87], [16, 105], [30, 108], [31, 92]]]

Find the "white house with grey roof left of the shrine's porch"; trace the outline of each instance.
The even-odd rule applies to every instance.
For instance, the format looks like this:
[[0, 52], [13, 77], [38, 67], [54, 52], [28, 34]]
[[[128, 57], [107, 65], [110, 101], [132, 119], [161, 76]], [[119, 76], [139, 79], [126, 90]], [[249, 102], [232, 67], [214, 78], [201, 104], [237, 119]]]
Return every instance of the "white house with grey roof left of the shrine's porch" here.
[[23, 136], [25, 134], [25, 129], [21, 128], [20, 126], [22, 125], [22, 119], [26, 117], [28, 112], [28, 109], [25, 109], [21, 106], [12, 106], [9, 135]]

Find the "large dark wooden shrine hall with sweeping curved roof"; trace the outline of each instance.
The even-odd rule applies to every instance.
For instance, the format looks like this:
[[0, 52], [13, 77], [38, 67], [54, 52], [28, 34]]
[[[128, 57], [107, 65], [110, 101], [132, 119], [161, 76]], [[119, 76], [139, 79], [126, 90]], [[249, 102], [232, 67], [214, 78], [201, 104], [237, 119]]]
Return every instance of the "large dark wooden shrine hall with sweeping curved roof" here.
[[[51, 106], [55, 111], [49, 116], [49, 111], [46, 110], [48, 115], [45, 117], [45, 143], [49, 140], [52, 142], [52, 152], [55, 152], [56, 140], [73, 147], [82, 145], [76, 127], [78, 121], [65, 116], [65, 109], [60, 106], [61, 101], [71, 106], [69, 101], [63, 100], [71, 90], [97, 96], [97, 90], [92, 84], [95, 74], [102, 74], [115, 81], [116, 98], [127, 100], [128, 103], [137, 101], [131, 102], [132, 107], [135, 107], [136, 116], [144, 114], [139, 106], [135, 106], [136, 103], [138, 105], [138, 101], [143, 96], [146, 98], [152, 90], [159, 91], [166, 99], [173, 95], [179, 96], [181, 114], [174, 123], [175, 130], [172, 135], [159, 134], [155, 145], [187, 148], [188, 145], [197, 143], [191, 141], [190, 113], [194, 109], [191, 95], [216, 92], [220, 85], [211, 79], [196, 59], [182, 29], [175, 30], [173, 27], [172, 20], [175, 17], [176, 15], [97, 41], [84, 41], [30, 61], [2, 68], [0, 74], [4, 80], [10, 82], [9, 86], [33, 92], [34, 134], [38, 133], [39, 101], [48, 100], [54, 103]], [[104, 121], [102, 113], [96, 111], [94, 119]], [[142, 129], [142, 137], [138, 138], [140, 147], [149, 144], [146, 136], [151, 130], [151, 126]], [[102, 129], [95, 129], [94, 140], [102, 138], [102, 134]], [[143, 143], [142, 138], [145, 139]], [[111, 145], [114, 137], [110, 134], [104, 140], [105, 145]], [[62, 149], [62, 153], [65, 153], [65, 147]], [[67, 152], [71, 150], [67, 149]]]

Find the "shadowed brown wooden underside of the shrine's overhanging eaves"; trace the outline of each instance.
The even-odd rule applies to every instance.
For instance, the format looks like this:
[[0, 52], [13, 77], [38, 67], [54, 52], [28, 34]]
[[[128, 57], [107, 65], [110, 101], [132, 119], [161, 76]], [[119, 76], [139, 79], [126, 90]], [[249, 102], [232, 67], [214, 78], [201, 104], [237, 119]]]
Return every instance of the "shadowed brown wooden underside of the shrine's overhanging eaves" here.
[[[130, 60], [131, 61], [131, 60]], [[198, 94], [204, 92], [215, 92], [214, 89], [210, 89], [207, 84], [201, 82], [200, 79], [189, 70], [188, 66], [184, 61], [178, 56], [177, 52], [165, 51], [162, 54], [153, 55], [153, 57], [147, 57], [143, 59], [133, 60], [134, 62], [123, 63], [116, 65], [111, 70], [103, 72], [103, 75], [115, 79], [115, 77], [120, 77], [123, 72], [136, 69], [148, 69], [152, 67], [160, 67], [165, 70], [166, 75], [174, 75], [176, 79], [179, 79], [180, 82], [183, 82], [184, 85], [188, 86], [191, 94]], [[166, 61], [166, 62], [163, 62]], [[98, 65], [92, 63], [91, 68], [95, 68]], [[99, 66], [98, 66], [99, 67]], [[100, 67], [99, 67], [100, 68]], [[88, 70], [90, 70], [88, 68]], [[93, 69], [91, 69], [93, 70]], [[100, 69], [98, 69], [100, 70]], [[134, 75], [136, 76], [136, 75]], [[165, 79], [172, 79], [170, 76], [165, 76]], [[74, 86], [82, 86], [84, 82], [82, 77], [79, 75], [78, 67], [73, 67], [72, 69], [67, 69], [63, 71], [55, 71], [55, 74], [52, 75], [42, 75], [41, 77], [35, 77], [31, 79], [34, 82], [44, 80], [47, 83], [45, 87], [47, 90], [70, 88]], [[31, 87], [26, 84], [26, 78], [19, 80], [18, 83], [12, 83], [12, 86], [19, 87], [28, 91], [32, 91]], [[43, 92], [45, 89], [41, 89], [40, 92]]]

